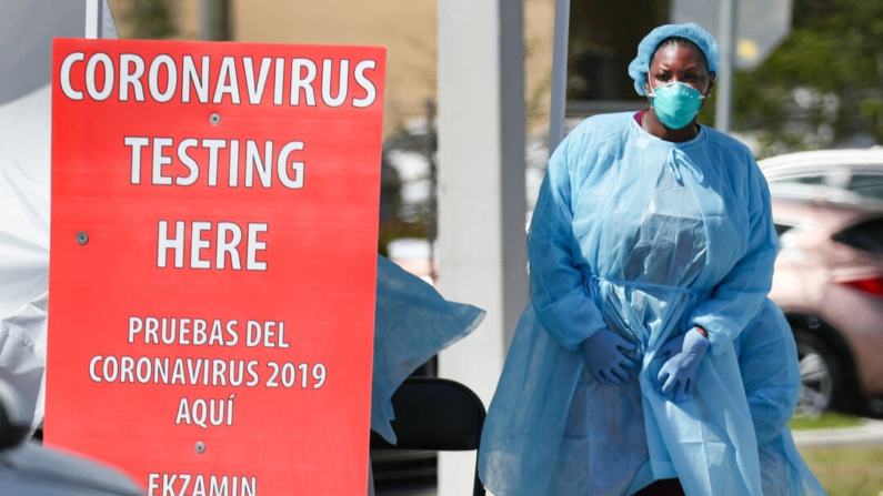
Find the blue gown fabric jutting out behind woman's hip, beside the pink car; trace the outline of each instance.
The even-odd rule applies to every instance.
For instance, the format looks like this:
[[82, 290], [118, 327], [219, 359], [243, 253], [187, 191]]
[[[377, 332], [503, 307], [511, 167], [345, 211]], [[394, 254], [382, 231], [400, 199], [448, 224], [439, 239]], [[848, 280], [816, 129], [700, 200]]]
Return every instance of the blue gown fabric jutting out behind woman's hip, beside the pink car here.
[[766, 300], [733, 344], [757, 438], [763, 495], [826, 495], [787, 427], [801, 377], [794, 335], [782, 311]]

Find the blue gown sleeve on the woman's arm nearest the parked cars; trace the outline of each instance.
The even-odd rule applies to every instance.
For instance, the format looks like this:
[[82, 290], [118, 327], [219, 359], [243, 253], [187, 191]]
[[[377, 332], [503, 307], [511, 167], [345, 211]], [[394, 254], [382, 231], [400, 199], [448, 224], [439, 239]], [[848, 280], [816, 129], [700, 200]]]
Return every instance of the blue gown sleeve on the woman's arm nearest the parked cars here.
[[779, 251], [766, 180], [753, 158], [749, 156], [747, 162], [747, 249], [714, 287], [711, 298], [696, 306], [690, 318], [691, 326], [700, 325], [709, 333], [713, 355], [726, 350], [760, 311], [772, 287]]

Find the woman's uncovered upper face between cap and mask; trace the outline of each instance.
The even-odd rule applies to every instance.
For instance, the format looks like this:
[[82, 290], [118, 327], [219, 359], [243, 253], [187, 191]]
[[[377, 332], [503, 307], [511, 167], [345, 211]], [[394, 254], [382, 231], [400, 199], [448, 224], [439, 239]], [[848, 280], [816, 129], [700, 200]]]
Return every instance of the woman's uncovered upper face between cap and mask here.
[[651, 88], [682, 82], [709, 95], [714, 84], [714, 72], [709, 72], [699, 50], [680, 43], [669, 44], [656, 50], [653, 60], [650, 61], [649, 88], [645, 90], [650, 93]]

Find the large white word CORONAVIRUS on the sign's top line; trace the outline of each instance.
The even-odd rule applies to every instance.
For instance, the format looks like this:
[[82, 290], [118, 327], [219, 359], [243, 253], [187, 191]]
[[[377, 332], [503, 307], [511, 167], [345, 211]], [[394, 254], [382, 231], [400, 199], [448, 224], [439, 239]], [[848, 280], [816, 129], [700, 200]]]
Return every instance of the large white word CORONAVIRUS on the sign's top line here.
[[[121, 53], [114, 60], [102, 52], [92, 53], [88, 59], [83, 52], [73, 52], [61, 62], [59, 77], [61, 90], [68, 99], [83, 100], [88, 95], [98, 102], [116, 94], [121, 102], [143, 102], [149, 95], [158, 103], [197, 101], [260, 105], [269, 94], [273, 105], [317, 107], [321, 99], [327, 107], [341, 107], [349, 102], [357, 109], [364, 109], [371, 107], [378, 97], [377, 85], [365, 74], [377, 69], [375, 60], [360, 60], [353, 64], [347, 59], [317, 62], [302, 58], [264, 57], [260, 67], [255, 63], [251, 57], [224, 57], [217, 77], [212, 79], [210, 73], [214, 71], [207, 55], [199, 62], [193, 55], [175, 60], [168, 54], [159, 54], [148, 61], [137, 53]], [[86, 64], [84, 71], [79, 71], [80, 78], [74, 80], [71, 74], [79, 64]], [[349, 84], [350, 75], [355, 80], [355, 88]], [[287, 79], [289, 84], [285, 84]], [[335, 81], [337, 90], [332, 88]], [[317, 82], [321, 88], [320, 99], [317, 99]], [[247, 90], [244, 99], [242, 88]]]

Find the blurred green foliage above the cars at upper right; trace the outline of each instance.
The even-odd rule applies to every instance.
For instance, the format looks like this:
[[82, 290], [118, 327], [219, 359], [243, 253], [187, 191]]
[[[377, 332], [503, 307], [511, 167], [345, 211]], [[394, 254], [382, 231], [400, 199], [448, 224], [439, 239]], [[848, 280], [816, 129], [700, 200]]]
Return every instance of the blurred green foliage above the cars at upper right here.
[[761, 131], [763, 154], [883, 143], [883, 2], [795, 0], [791, 34], [735, 92], [734, 126]]

